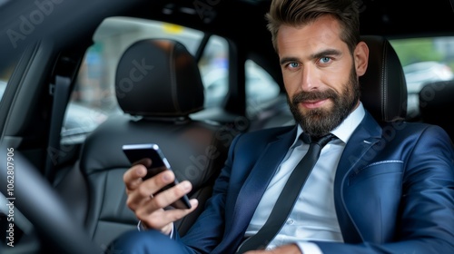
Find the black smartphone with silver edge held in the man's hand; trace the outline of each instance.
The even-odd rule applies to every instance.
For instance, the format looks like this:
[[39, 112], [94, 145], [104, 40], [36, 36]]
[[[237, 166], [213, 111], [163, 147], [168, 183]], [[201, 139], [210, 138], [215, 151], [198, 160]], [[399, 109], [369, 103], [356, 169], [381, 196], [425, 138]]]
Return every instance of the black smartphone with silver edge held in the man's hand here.
[[[147, 180], [162, 171], [172, 171], [171, 165], [165, 158], [163, 151], [155, 143], [125, 144], [122, 149], [132, 165], [143, 164], [144, 159], [152, 160], [152, 165], [147, 167], [148, 172], [143, 177], [143, 180]], [[177, 183], [178, 181], [175, 179], [175, 181], [169, 183], [163, 189], [156, 192], [156, 194], [175, 186]], [[180, 200], [173, 202], [172, 206], [177, 209], [190, 209], [191, 203], [187, 195], [184, 195]]]

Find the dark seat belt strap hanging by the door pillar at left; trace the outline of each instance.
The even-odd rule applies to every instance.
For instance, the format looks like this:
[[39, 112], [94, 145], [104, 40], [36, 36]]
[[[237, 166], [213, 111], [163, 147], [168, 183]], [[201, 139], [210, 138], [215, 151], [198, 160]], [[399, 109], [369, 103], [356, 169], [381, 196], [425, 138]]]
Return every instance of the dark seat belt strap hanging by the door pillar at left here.
[[66, 104], [69, 100], [70, 85], [71, 79], [69, 77], [56, 75], [55, 83], [51, 83], [49, 86], [49, 93], [54, 97], [54, 100], [44, 175], [51, 182], [54, 181], [54, 166], [58, 163], [58, 158], [64, 155], [64, 151], [60, 148], [60, 133], [62, 132]]

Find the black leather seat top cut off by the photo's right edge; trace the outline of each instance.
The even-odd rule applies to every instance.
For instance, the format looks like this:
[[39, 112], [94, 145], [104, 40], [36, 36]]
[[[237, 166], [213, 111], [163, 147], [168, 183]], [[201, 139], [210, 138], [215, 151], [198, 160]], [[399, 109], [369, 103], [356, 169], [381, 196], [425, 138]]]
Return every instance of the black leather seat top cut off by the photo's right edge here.
[[439, 125], [454, 141], [454, 80], [427, 83], [419, 91], [419, 113], [422, 122]]

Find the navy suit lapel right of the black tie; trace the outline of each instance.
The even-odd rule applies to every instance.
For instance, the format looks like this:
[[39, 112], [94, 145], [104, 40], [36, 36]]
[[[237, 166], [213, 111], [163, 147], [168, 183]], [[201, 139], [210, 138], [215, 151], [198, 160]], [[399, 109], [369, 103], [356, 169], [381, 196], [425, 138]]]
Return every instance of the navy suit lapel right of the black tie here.
[[356, 171], [368, 163], [369, 157], [372, 156], [370, 152], [373, 152], [370, 151], [370, 148], [380, 142], [381, 132], [380, 125], [375, 122], [370, 113], [366, 112], [364, 119], [345, 146], [336, 171], [334, 200], [345, 242], [358, 243], [362, 241], [360, 232], [351, 220], [350, 213], [345, 206], [345, 200], [349, 199], [349, 197], [344, 197], [343, 195], [343, 190], [347, 187], [345, 186], [347, 176], [350, 175], [351, 171]]

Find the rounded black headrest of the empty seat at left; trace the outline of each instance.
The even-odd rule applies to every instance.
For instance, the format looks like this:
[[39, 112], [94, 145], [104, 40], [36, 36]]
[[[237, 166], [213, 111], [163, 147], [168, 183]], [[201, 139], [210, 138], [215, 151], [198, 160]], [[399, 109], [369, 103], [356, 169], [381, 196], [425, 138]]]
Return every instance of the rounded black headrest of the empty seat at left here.
[[124, 52], [115, 75], [123, 112], [181, 117], [203, 108], [203, 84], [192, 54], [167, 39], [138, 41]]

